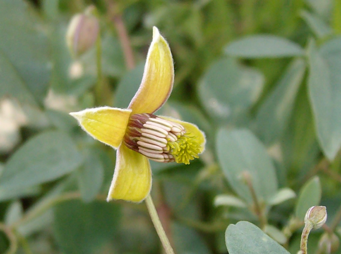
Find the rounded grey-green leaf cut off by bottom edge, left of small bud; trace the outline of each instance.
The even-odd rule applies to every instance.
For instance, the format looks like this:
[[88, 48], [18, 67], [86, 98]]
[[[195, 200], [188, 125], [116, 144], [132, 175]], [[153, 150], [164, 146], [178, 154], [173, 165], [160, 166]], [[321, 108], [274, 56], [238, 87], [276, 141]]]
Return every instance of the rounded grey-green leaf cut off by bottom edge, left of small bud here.
[[225, 232], [229, 254], [289, 254], [280, 244], [248, 221], [230, 224]]

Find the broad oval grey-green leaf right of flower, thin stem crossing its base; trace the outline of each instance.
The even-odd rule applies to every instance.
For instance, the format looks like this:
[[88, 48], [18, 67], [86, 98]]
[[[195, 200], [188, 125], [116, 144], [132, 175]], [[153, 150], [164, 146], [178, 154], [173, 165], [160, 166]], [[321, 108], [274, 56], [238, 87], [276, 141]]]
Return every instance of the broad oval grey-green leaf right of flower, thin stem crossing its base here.
[[275, 167], [264, 145], [249, 130], [221, 128], [217, 134], [217, 155], [224, 175], [237, 194], [252, 202], [242, 174], [248, 172], [257, 197], [267, 201], [277, 192]]

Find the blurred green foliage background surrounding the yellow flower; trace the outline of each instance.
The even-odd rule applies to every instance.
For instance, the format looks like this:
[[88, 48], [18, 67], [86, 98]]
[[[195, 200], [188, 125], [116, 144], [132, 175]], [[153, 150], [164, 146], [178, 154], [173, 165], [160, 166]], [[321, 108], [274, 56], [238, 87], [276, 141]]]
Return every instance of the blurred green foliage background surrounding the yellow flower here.
[[[101, 26], [100, 100], [95, 48], [75, 60], [65, 43], [89, 4]], [[0, 253], [161, 253], [144, 203], [104, 201], [114, 150], [68, 115], [129, 104], [152, 26], [175, 62], [158, 114], [207, 136], [188, 166], [151, 163], [175, 252], [297, 253], [305, 212], [321, 204], [327, 226], [308, 248], [324, 253], [321, 236], [341, 234], [339, 0], [0, 0]]]

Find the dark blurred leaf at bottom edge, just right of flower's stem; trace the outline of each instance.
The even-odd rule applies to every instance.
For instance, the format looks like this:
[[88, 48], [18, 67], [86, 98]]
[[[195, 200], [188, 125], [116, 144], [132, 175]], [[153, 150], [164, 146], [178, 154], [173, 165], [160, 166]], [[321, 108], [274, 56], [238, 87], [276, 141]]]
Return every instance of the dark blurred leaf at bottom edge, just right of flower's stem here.
[[174, 251], [178, 254], [209, 254], [212, 253], [204, 239], [193, 229], [173, 222], [171, 225]]

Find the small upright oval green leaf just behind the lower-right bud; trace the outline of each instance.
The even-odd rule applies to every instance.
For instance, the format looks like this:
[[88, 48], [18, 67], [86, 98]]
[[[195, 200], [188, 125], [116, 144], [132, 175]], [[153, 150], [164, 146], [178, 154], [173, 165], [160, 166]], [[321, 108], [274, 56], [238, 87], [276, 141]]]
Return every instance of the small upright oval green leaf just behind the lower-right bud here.
[[320, 204], [321, 194], [322, 190], [318, 176], [306, 182], [298, 195], [295, 211], [296, 217], [303, 221], [307, 210], [312, 206]]

